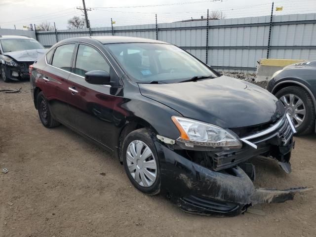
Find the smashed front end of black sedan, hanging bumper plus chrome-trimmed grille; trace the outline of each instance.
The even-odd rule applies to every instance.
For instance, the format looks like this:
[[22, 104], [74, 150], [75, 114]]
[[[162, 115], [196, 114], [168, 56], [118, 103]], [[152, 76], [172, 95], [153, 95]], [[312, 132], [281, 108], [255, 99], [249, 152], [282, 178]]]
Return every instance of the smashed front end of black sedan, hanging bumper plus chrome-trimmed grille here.
[[293, 130], [286, 119], [276, 130], [249, 139], [239, 151], [183, 150], [157, 140], [161, 190], [183, 210], [200, 214], [237, 215], [259, 203], [293, 199], [307, 188], [255, 188], [255, 169], [247, 160], [258, 155], [274, 158], [286, 173], [290, 169]]

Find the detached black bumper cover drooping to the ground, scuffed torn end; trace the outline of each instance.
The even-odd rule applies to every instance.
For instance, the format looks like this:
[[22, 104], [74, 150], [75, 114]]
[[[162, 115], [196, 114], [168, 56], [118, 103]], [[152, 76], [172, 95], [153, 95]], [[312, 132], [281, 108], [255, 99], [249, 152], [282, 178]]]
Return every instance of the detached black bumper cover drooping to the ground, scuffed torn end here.
[[284, 202], [307, 188], [255, 189], [238, 166], [212, 171], [156, 142], [161, 170], [161, 193], [188, 212], [237, 215], [250, 205]]

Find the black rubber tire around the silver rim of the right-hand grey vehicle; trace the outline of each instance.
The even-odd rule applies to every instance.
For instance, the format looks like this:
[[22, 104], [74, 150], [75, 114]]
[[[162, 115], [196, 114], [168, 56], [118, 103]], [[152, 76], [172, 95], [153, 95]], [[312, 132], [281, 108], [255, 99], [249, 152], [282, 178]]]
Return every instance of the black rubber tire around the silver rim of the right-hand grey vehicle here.
[[[288, 87], [282, 88], [276, 92], [276, 97], [278, 99], [280, 99], [284, 105], [285, 105], [284, 98], [286, 98], [286, 97], [289, 98], [288, 95], [294, 95], [295, 98], [301, 99], [303, 102], [303, 105], [301, 107], [299, 107], [299, 109], [300, 110], [305, 109], [305, 116], [302, 117], [303, 121], [301, 122], [301, 124], [297, 124], [297, 119], [292, 118], [294, 116], [294, 114], [291, 115], [291, 118], [292, 118], [293, 123], [295, 125], [297, 134], [298, 135], [306, 135], [306, 134], [314, 132], [316, 114], [315, 114], [315, 105], [313, 103], [313, 99], [312, 99], [311, 95], [304, 88], [302, 88], [300, 86], [288, 86]], [[296, 99], [294, 99], [294, 103], [295, 103], [295, 101], [296, 101]], [[293, 103], [290, 103], [290, 105], [291, 104], [293, 104]], [[289, 107], [291, 107], [291, 106], [289, 106]], [[287, 112], [295, 113], [294, 112], [295, 109], [294, 108], [291, 109], [291, 108], [286, 108]], [[302, 115], [298, 115], [298, 116], [302, 116]]]

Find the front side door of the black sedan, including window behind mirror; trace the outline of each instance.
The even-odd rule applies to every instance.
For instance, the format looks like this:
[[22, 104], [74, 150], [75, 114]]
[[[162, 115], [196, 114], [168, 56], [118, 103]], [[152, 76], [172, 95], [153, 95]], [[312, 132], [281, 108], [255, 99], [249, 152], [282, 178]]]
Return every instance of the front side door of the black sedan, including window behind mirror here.
[[73, 89], [69, 100], [72, 126], [113, 150], [113, 107], [121, 98], [115, 96], [115, 90], [109, 85], [86, 82], [84, 74], [93, 70], [104, 70], [110, 74], [111, 81], [118, 80], [101, 51], [90, 44], [79, 43], [74, 58], [74, 74], [69, 77]]

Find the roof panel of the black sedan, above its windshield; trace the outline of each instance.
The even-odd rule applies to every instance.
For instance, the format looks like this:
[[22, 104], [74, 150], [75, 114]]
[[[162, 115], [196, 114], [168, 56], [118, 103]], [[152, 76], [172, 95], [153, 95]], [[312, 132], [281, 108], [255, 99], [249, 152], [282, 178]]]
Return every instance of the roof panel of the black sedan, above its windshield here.
[[[127, 37], [127, 36], [87, 36], [87, 37], [76, 37], [76, 38], [70, 38], [66, 40], [62, 40], [60, 42], [66, 42], [66, 41], [89, 41], [90, 40], [98, 40], [102, 44], [108, 44], [108, 43], [166, 43], [159, 40], [151, 40], [151, 39], [145, 39], [145, 38], [138, 38], [138, 37]], [[169, 44], [169, 43], [167, 43]]]

